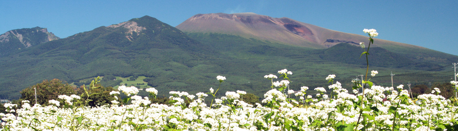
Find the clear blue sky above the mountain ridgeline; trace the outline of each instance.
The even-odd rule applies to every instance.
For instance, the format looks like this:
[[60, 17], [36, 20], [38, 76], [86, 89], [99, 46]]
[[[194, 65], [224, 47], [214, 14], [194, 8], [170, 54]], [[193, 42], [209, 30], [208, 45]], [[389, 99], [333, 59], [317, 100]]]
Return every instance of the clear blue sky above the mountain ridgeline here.
[[[458, 55], [458, 0], [0, 0], [0, 33], [45, 27], [60, 38], [145, 15], [171, 26], [205, 13], [254, 12]], [[457, 61], [458, 62], [458, 61]]]

